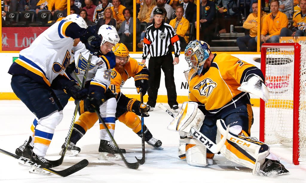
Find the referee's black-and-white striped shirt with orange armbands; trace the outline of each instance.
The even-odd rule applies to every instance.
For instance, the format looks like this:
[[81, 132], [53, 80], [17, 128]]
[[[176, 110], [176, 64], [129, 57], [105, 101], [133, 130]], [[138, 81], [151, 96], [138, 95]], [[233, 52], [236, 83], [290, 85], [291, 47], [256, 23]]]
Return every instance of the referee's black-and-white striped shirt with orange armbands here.
[[181, 51], [181, 43], [173, 27], [167, 23], [162, 23], [159, 28], [155, 28], [152, 24], [146, 29], [142, 58], [146, 59], [149, 53], [151, 57], [169, 54], [171, 45], [174, 46], [175, 57], [178, 57]]

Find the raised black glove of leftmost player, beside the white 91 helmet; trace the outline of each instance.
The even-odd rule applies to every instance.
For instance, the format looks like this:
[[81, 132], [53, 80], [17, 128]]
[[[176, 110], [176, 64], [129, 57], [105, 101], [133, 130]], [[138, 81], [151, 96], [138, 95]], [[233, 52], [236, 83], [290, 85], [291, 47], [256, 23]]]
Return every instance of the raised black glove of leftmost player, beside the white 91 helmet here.
[[80, 37], [80, 41], [93, 55], [98, 55], [102, 39], [92, 26], [87, 27], [86, 32]]

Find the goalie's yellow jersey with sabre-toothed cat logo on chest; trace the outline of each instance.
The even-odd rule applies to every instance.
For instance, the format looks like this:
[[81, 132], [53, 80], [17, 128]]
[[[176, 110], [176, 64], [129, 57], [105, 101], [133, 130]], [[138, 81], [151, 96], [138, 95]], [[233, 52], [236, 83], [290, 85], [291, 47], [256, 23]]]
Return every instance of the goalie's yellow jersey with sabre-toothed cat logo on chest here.
[[214, 55], [208, 70], [203, 69], [200, 75], [193, 69], [189, 71], [189, 101], [204, 104], [205, 115], [250, 104], [248, 93], [237, 88], [252, 75], [263, 79], [261, 70], [227, 53]]

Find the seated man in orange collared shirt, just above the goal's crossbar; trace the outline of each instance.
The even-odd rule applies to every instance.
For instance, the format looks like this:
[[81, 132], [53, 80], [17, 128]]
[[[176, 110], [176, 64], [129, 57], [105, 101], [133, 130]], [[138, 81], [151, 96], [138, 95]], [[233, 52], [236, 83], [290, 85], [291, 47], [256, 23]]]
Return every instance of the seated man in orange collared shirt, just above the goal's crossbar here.
[[272, 10], [272, 13], [263, 19], [263, 28], [260, 32], [261, 43], [278, 43], [281, 29], [288, 25], [287, 16], [285, 13], [278, 11], [278, 8], [278, 0], [271, 0], [270, 9]]

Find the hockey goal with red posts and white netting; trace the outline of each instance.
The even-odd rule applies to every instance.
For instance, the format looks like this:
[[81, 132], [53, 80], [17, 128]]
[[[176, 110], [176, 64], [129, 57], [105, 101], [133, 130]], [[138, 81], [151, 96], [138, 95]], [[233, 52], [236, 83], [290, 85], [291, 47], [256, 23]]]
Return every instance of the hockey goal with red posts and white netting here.
[[306, 44], [268, 43], [261, 70], [270, 91], [260, 102], [260, 141], [293, 147], [293, 163], [306, 161]]

